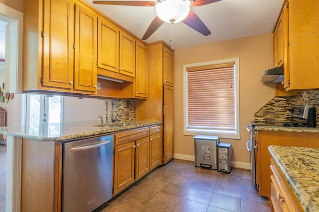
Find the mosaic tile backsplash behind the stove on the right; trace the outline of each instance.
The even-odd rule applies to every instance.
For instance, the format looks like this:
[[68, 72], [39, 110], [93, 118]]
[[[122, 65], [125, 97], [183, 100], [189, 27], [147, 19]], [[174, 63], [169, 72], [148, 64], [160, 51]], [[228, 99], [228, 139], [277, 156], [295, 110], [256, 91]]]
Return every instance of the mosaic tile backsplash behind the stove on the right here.
[[291, 105], [305, 104], [316, 107], [316, 123], [319, 127], [319, 89], [302, 90], [297, 96], [276, 96], [255, 113], [255, 124], [282, 126], [283, 122], [291, 121], [289, 115]]

